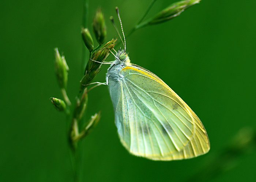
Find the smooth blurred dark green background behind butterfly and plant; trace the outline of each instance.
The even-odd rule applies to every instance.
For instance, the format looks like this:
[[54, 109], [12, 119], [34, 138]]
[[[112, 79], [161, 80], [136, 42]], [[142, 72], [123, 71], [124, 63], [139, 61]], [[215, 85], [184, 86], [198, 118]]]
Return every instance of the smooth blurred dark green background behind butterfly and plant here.
[[[158, 0], [147, 17], [167, 7]], [[105, 13], [107, 40], [116, 33], [109, 16], [118, 6], [126, 33], [143, 16], [148, 0], [89, 1], [89, 28], [97, 7]], [[134, 157], [121, 145], [105, 86], [89, 94], [86, 118], [102, 118], [83, 141], [83, 181], [186, 181], [211, 171], [237, 132], [255, 130], [255, 0], [210, 1], [179, 17], [139, 29], [127, 38], [132, 63], [158, 75], [196, 112], [211, 150], [198, 158], [158, 162]], [[69, 66], [68, 95], [74, 103], [81, 78], [82, 0], [0, 2], [0, 181], [72, 181], [65, 115], [51, 96], [61, 98], [54, 74], [58, 47]], [[117, 19], [116, 19], [117, 22]], [[96, 43], [95, 43], [96, 44]], [[118, 49], [118, 48], [116, 48]], [[108, 60], [112, 60], [109, 56]], [[95, 81], [104, 82], [108, 66]], [[256, 153], [242, 152], [208, 181], [255, 181]], [[213, 162], [214, 163], [214, 162]], [[204, 165], [208, 167], [203, 167]], [[210, 166], [210, 167], [209, 167]], [[206, 180], [206, 181], [207, 181]]]

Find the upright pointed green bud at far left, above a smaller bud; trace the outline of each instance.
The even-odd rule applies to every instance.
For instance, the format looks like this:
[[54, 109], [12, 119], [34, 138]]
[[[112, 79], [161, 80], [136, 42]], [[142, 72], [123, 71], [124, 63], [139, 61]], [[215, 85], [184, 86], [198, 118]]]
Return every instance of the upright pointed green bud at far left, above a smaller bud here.
[[55, 72], [60, 88], [67, 88], [68, 82], [68, 65], [64, 56], [60, 56], [58, 48], [55, 51]]

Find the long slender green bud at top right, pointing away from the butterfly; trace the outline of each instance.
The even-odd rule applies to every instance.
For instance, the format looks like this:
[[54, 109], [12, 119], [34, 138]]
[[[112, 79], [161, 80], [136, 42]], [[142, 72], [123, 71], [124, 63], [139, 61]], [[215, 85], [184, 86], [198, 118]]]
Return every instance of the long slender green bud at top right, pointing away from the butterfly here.
[[171, 4], [169, 7], [159, 12], [148, 24], [157, 24], [170, 20], [182, 13], [185, 9], [194, 4], [199, 3], [200, 0], [184, 0]]

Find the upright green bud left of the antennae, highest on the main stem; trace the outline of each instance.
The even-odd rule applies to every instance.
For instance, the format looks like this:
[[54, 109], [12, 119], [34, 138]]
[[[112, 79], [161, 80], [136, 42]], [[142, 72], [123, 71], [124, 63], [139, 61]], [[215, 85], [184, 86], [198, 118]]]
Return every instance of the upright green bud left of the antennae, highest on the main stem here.
[[101, 9], [98, 9], [93, 19], [93, 31], [94, 35], [100, 45], [102, 45], [106, 39], [106, 24]]

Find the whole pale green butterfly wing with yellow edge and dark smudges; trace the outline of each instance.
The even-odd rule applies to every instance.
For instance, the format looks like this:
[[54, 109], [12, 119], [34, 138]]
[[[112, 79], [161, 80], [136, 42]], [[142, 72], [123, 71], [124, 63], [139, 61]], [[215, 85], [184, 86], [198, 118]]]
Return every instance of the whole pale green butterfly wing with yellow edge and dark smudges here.
[[130, 153], [176, 160], [208, 152], [210, 143], [200, 119], [160, 78], [134, 64], [119, 75], [119, 84], [110, 80], [109, 90], [118, 134]]

